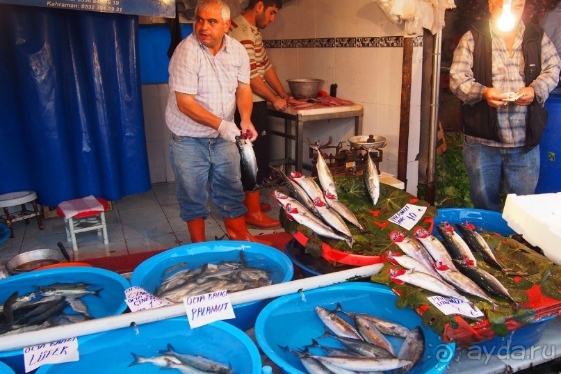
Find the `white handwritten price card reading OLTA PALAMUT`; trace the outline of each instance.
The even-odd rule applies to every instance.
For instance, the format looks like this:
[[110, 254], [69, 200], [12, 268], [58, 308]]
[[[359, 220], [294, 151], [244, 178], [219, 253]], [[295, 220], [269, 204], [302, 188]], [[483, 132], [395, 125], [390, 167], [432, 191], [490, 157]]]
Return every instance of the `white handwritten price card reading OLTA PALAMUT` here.
[[203, 293], [183, 299], [189, 326], [194, 329], [214, 322], [236, 318], [227, 290]]

